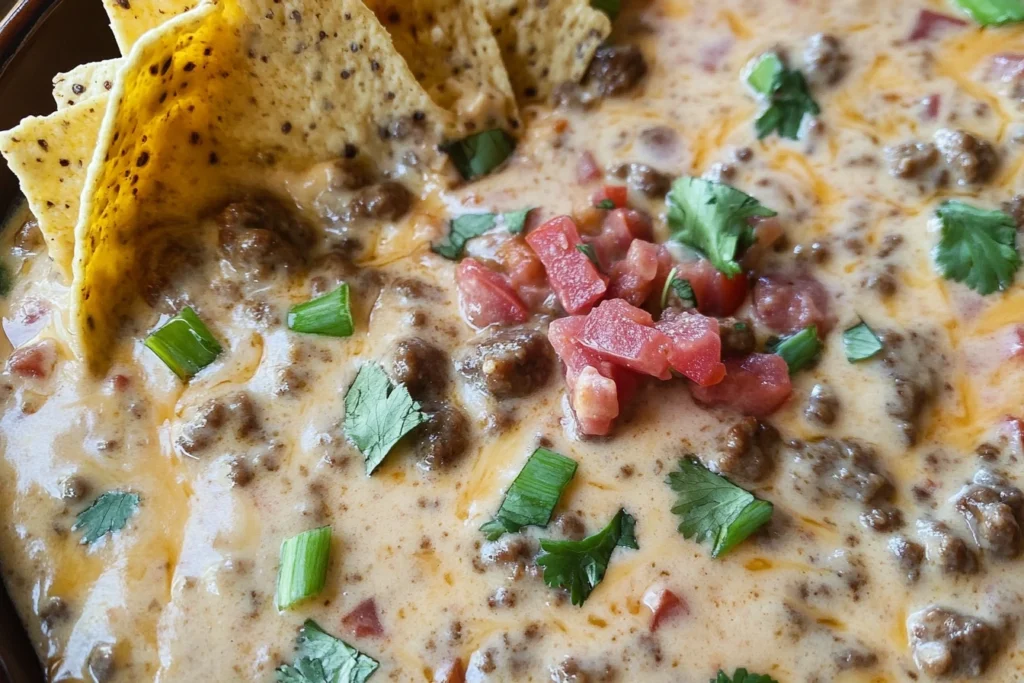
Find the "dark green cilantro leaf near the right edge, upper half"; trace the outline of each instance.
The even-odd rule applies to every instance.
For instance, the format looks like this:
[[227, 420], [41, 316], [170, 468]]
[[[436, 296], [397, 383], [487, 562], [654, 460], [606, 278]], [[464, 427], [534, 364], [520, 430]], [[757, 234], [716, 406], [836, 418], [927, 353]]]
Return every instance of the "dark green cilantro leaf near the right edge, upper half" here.
[[943, 202], [935, 214], [942, 225], [934, 254], [942, 276], [980, 294], [1009, 289], [1021, 265], [1014, 219], [956, 200]]

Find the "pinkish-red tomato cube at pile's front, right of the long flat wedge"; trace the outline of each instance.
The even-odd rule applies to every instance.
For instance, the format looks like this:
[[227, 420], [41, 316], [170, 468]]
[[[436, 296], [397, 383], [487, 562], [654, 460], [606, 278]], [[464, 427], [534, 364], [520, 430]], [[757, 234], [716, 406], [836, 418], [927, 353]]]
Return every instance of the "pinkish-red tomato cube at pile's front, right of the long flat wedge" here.
[[722, 381], [725, 366], [717, 319], [698, 313], [667, 312], [654, 327], [672, 340], [669, 362], [673, 370], [700, 386]]

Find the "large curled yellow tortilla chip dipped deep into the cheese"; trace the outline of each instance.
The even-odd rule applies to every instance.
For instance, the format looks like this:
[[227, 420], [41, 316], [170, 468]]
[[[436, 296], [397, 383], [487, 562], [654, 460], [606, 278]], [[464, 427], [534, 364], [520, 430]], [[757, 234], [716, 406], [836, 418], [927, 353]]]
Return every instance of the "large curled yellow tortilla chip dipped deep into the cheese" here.
[[458, 133], [455, 117], [357, 0], [222, 0], [142, 36], [111, 92], [76, 226], [72, 325], [89, 368], [109, 366], [147, 245], [259, 188], [269, 166], [395, 166], [408, 142], [381, 131], [407, 120], [421, 161], [440, 163], [430, 155]]

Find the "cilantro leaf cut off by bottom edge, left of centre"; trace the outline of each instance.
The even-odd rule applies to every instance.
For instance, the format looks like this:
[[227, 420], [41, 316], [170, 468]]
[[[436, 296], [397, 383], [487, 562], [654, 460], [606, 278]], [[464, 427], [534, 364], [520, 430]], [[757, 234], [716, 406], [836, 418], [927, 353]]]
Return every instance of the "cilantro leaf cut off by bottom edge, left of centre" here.
[[278, 668], [278, 683], [365, 683], [380, 666], [326, 633], [312, 620], [299, 630], [295, 663]]

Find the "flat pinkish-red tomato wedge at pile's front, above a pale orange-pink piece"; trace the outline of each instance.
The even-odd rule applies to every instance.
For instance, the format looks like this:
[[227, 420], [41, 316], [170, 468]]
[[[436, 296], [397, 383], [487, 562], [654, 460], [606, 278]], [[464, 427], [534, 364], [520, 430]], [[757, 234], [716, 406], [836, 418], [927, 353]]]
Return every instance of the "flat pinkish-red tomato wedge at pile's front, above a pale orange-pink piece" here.
[[654, 329], [650, 313], [622, 299], [602, 301], [587, 316], [580, 342], [605, 360], [667, 380], [668, 337]]

